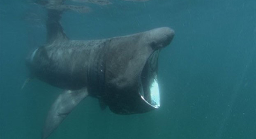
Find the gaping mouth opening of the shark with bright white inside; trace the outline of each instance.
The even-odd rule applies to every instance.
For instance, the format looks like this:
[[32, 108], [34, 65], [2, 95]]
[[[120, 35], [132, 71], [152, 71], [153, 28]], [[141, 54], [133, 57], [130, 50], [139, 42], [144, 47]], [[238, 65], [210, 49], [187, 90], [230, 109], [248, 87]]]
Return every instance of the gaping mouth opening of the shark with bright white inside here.
[[156, 109], [160, 107], [160, 94], [157, 82], [157, 62], [159, 51], [160, 50], [156, 50], [153, 52], [143, 67], [139, 87], [141, 98], [145, 103]]

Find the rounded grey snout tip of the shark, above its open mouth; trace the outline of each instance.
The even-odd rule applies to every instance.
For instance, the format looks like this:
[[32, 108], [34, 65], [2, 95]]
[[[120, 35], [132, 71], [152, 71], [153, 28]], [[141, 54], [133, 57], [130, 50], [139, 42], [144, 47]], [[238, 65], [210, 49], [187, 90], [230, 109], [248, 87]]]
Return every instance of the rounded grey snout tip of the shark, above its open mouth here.
[[154, 49], [160, 49], [168, 46], [174, 37], [174, 30], [169, 27], [161, 27], [148, 32], [150, 46]]

